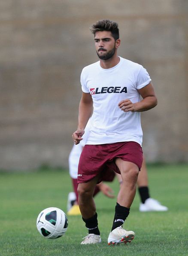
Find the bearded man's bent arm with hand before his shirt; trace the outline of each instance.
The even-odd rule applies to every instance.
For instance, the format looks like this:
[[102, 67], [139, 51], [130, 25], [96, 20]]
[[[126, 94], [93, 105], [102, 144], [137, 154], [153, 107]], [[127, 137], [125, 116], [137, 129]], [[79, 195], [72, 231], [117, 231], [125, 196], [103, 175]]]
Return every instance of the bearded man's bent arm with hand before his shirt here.
[[119, 108], [124, 112], [143, 112], [157, 106], [158, 100], [151, 82], [142, 89], [138, 89], [138, 92], [143, 97], [143, 100], [136, 103], [132, 103], [128, 99], [121, 100], [118, 104]]

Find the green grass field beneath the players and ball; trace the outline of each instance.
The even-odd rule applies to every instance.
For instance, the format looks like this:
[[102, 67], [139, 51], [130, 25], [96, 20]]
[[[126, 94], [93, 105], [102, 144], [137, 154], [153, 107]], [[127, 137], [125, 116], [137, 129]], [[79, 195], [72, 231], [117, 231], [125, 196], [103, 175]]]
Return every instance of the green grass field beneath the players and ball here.
[[[136, 194], [124, 224], [136, 237], [132, 243], [108, 246], [115, 199], [96, 197], [102, 242], [80, 245], [87, 230], [81, 216], [69, 216], [66, 234], [56, 240], [43, 238], [36, 229], [42, 209], [66, 212], [72, 190], [67, 171], [0, 173], [0, 256], [179, 256], [188, 255], [188, 165], [149, 165], [151, 196], [169, 207], [168, 212], [139, 212]], [[110, 183], [118, 192], [118, 182]]]

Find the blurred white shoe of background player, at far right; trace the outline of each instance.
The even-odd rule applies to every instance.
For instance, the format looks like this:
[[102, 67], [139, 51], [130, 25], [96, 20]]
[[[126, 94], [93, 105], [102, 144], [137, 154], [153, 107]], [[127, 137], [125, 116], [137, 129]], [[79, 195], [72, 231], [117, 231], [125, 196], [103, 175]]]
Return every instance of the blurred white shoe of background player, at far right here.
[[153, 198], [148, 198], [145, 203], [140, 203], [139, 205], [140, 212], [165, 212], [167, 210], [167, 206], [161, 205], [161, 203]]

